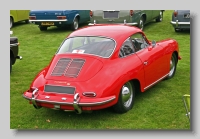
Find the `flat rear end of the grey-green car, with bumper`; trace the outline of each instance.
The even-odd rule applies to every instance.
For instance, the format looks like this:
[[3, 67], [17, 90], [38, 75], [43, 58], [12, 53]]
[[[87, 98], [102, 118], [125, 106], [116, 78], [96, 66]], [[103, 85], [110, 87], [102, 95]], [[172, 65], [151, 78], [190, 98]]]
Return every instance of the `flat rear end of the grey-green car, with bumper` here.
[[133, 22], [133, 10], [91, 10], [90, 24], [129, 24], [137, 25]]

